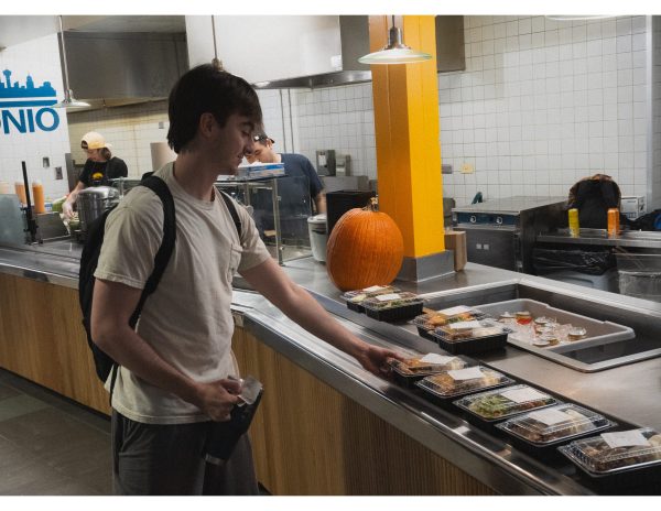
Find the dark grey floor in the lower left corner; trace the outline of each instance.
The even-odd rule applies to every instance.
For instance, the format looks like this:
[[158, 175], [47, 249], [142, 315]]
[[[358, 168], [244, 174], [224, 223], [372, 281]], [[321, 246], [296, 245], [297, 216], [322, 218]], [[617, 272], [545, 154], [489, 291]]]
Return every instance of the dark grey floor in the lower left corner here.
[[110, 420], [0, 369], [0, 496], [111, 493]]

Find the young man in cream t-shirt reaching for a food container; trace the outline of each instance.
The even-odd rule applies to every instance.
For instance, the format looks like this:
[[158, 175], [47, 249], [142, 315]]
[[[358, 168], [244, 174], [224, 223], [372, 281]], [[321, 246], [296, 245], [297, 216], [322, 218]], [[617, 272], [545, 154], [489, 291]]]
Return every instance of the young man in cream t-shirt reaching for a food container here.
[[112, 393], [113, 486], [118, 494], [253, 494], [245, 436], [224, 466], [205, 464], [212, 421], [237, 403], [230, 312], [235, 271], [313, 335], [384, 374], [394, 352], [335, 322], [271, 259], [254, 222], [237, 207], [239, 239], [214, 183], [253, 150], [261, 108], [247, 81], [212, 65], [183, 75], [170, 94], [167, 140], [175, 162], [155, 175], [172, 192], [176, 246], [137, 330], [128, 320], [163, 236], [160, 199], [137, 187], [108, 217], [95, 276], [93, 336], [121, 366]]

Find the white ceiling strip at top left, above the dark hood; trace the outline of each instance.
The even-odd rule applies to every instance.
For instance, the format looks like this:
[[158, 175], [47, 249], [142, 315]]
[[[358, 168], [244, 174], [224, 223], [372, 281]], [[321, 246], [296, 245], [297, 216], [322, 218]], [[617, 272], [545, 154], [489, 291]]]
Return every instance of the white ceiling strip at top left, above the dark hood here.
[[[185, 32], [183, 15], [71, 15], [64, 30], [77, 32]], [[0, 15], [0, 47], [9, 47], [59, 31], [54, 15]]]

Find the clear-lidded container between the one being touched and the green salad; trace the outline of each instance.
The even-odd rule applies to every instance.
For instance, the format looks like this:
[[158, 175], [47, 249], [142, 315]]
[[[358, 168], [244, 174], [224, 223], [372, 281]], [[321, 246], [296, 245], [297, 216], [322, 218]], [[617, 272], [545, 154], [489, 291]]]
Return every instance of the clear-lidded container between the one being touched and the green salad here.
[[441, 398], [453, 398], [507, 383], [513, 383], [513, 380], [484, 366], [443, 371], [416, 382], [422, 389]]

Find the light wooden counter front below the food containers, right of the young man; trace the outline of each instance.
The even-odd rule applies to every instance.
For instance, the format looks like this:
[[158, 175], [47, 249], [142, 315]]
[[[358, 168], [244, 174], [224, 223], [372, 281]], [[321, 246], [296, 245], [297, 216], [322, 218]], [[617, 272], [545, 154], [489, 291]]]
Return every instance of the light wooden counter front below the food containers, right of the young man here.
[[234, 349], [264, 384], [250, 435], [273, 494], [495, 494], [242, 328]]

